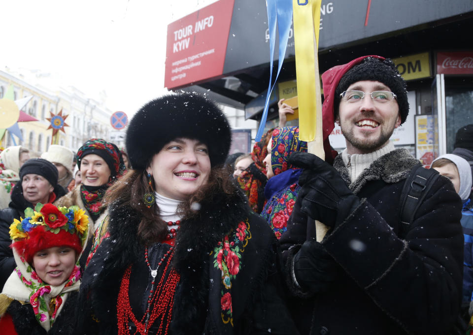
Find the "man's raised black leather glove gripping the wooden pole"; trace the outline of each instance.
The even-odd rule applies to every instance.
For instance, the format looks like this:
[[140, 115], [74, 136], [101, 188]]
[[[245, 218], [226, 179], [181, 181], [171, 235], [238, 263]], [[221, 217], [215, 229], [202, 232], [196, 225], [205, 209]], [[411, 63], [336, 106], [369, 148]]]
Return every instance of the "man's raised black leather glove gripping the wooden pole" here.
[[299, 177], [302, 186], [297, 201], [301, 210], [314, 220], [334, 227], [342, 222], [360, 203], [332, 166], [315, 155], [295, 152], [289, 163], [304, 168]]

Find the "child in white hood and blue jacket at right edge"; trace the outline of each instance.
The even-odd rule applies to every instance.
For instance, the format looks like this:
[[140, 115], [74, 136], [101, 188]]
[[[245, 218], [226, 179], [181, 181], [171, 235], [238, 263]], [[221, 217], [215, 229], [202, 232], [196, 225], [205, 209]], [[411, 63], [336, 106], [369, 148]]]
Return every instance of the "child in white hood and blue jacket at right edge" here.
[[463, 201], [461, 223], [465, 245], [462, 305], [466, 311], [472, 301], [473, 294], [473, 210], [471, 201], [468, 199], [472, 189], [472, 170], [467, 160], [453, 154], [439, 156], [432, 162], [431, 168], [436, 169], [441, 175], [452, 181], [455, 191]]

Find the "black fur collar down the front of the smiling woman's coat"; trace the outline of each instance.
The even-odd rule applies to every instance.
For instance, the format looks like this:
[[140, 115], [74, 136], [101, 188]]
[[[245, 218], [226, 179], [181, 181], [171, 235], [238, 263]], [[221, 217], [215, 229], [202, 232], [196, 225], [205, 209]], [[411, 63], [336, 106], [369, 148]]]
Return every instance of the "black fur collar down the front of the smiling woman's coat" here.
[[[205, 197], [201, 209], [192, 217], [181, 220], [173, 257], [173, 267], [181, 275], [176, 290], [171, 330], [172, 334], [196, 334], [202, 331], [205, 322], [209, 285], [209, 254], [218, 241], [235, 229], [238, 223], [250, 215], [244, 195], [234, 188], [231, 194], [214, 192]], [[99, 248], [97, 257], [91, 261], [88, 271], [96, 272], [91, 278], [89, 272], [93, 309], [100, 320], [109, 322], [109, 328], [116, 327], [116, 301], [121, 278], [126, 268], [135, 259], [143, 257], [137, 240], [140, 215], [119, 202], [109, 207], [110, 237], [102, 242], [109, 247]], [[101, 252], [106, 249], [102, 255]], [[98, 259], [101, 264], [92, 264]], [[103, 260], [103, 261], [102, 261]], [[84, 275], [84, 281], [86, 280]], [[84, 282], [83, 281], [83, 282]]]

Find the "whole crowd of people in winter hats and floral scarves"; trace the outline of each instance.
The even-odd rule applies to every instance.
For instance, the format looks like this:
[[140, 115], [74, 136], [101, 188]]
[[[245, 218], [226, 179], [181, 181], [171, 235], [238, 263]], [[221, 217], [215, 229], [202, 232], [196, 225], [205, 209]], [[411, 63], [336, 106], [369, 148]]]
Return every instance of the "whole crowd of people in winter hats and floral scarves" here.
[[126, 150], [3, 150], [1, 334], [471, 331], [473, 125], [427, 171], [389, 139], [409, 111], [392, 61], [322, 83], [325, 160], [283, 100], [279, 126], [228, 155], [226, 116], [196, 93], [144, 104]]

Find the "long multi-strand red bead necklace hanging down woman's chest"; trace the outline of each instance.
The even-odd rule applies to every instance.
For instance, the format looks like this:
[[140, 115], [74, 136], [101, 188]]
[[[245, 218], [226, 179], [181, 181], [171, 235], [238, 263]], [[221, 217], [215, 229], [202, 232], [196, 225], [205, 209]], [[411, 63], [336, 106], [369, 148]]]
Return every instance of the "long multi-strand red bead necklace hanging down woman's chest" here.
[[[158, 318], [161, 318], [158, 334], [168, 334], [169, 323], [172, 316], [172, 307], [174, 305], [174, 292], [180, 279], [179, 274], [173, 268], [170, 269], [169, 275], [166, 276], [166, 273], [168, 273], [169, 264], [171, 263], [171, 259], [174, 255], [173, 250], [174, 248], [170, 247], [168, 252], [161, 258], [160, 262], [158, 263], [158, 267], [153, 270], [148, 261], [148, 247], [145, 247], [144, 259], [146, 261], [146, 265], [151, 271], [153, 280], [151, 281], [151, 290], [148, 296], [146, 313], [141, 318], [141, 321], [136, 319], [135, 314], [133, 314], [132, 307], [130, 306], [130, 297], [128, 291], [130, 287], [130, 274], [132, 272], [132, 266], [129, 266], [125, 271], [117, 299], [119, 335], [130, 334], [130, 321], [132, 321], [136, 326], [135, 334], [139, 333], [141, 335], [147, 335], [149, 331], [148, 325], [153, 325]], [[161, 276], [156, 289], [154, 289], [158, 268], [161, 266], [166, 257], [168, 257], [166, 268], [164, 268], [163, 275]], [[151, 306], [153, 307], [151, 308]]]

